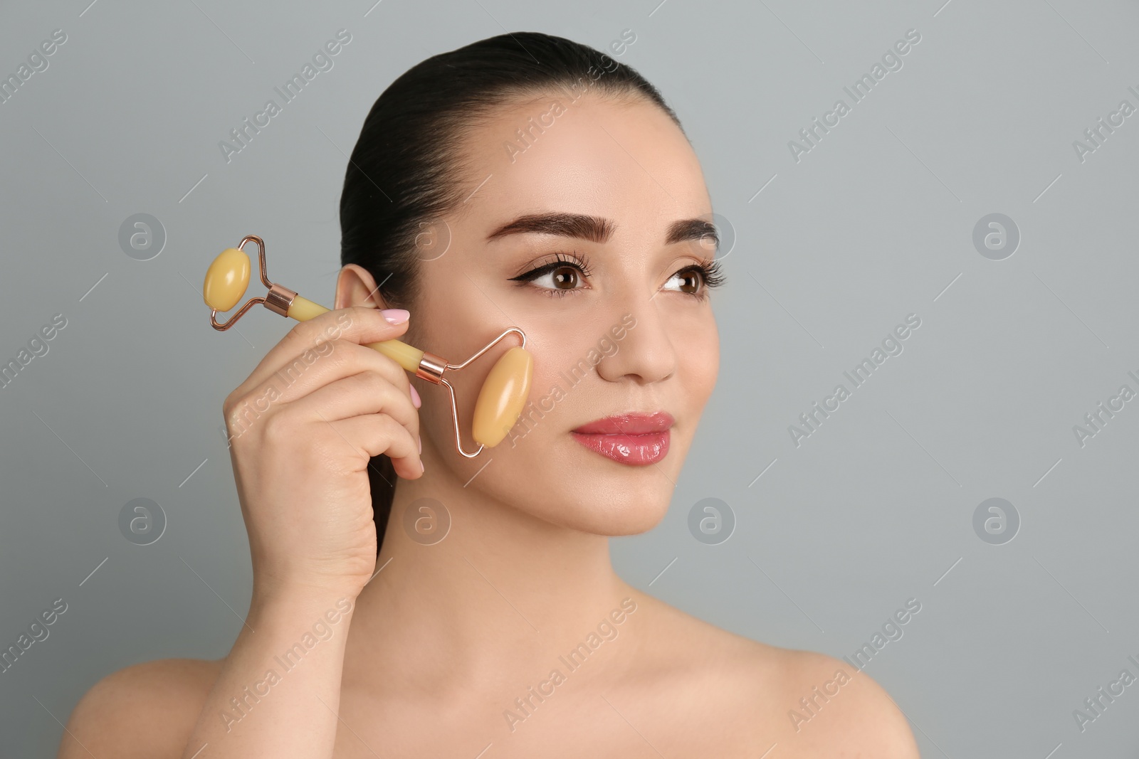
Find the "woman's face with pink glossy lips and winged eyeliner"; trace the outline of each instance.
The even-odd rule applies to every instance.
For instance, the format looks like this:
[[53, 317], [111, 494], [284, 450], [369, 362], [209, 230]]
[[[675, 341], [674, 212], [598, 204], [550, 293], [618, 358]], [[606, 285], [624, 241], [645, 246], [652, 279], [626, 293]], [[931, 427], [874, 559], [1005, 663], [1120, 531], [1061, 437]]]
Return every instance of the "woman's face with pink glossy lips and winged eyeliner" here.
[[[423, 248], [405, 339], [459, 363], [507, 328], [522, 329], [534, 358], [532, 405], [500, 444], [466, 459], [454, 449], [446, 388], [413, 380], [426, 469], [416, 489], [431, 490], [441, 476], [456, 488], [469, 480], [464, 494], [482, 492], [556, 525], [603, 535], [650, 529], [667, 510], [719, 369], [711, 302], [697, 297], [711, 290], [691, 269], [711, 265], [715, 248], [700, 239], [707, 225], [683, 223], [712, 218], [696, 155], [656, 106], [593, 93], [502, 108], [466, 134], [465, 150], [476, 179], [460, 211], [434, 230], [449, 231], [445, 253]], [[554, 214], [582, 218], [503, 230]], [[517, 279], [559, 258], [568, 263]], [[478, 389], [515, 345], [510, 335], [452, 373], [467, 451], [477, 447]], [[629, 412], [671, 415], [663, 456], [624, 459], [629, 446], [572, 432]], [[445, 502], [445, 489], [435, 497]]]

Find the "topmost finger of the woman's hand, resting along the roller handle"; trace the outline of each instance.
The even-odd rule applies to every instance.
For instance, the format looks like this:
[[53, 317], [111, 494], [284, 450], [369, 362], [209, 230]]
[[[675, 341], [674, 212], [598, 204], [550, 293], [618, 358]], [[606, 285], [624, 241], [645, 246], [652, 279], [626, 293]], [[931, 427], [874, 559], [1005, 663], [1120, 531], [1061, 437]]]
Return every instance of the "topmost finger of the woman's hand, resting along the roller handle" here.
[[[319, 349], [330, 340], [349, 340], [355, 344], [378, 343], [396, 338], [408, 329], [408, 322], [391, 324], [377, 308], [350, 306], [329, 311], [313, 319], [298, 322], [281, 340], [270, 348], [264, 358], [254, 368], [230, 398], [248, 394], [264, 383], [286, 365], [306, 350], [308, 355], [320, 355]], [[327, 346], [326, 346], [327, 347]], [[227, 399], [229, 401], [229, 399]]]

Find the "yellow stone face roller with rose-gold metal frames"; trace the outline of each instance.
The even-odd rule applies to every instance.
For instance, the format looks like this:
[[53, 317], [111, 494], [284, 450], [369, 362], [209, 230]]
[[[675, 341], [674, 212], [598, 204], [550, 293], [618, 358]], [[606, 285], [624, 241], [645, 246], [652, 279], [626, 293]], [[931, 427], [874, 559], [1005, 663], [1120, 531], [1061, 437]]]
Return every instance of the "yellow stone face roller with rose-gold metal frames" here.
[[[244, 249], [246, 242], [257, 244], [261, 258], [261, 281], [269, 288], [269, 292], [263, 297], [248, 299], [241, 306], [240, 311], [230, 316], [229, 321], [219, 322], [218, 312], [226, 312], [236, 306], [237, 302], [245, 295], [245, 290], [249, 287], [249, 256]], [[308, 298], [302, 298], [293, 290], [269, 281], [269, 277], [265, 274], [265, 244], [260, 237], [253, 234], [245, 236], [236, 248], [226, 248], [214, 258], [206, 271], [206, 279], [202, 286], [202, 296], [206, 305], [210, 306], [210, 323], [216, 330], [226, 330], [232, 327], [233, 322], [240, 319], [255, 303], [263, 303], [273, 313], [295, 319], [298, 322], [319, 316], [328, 311], [328, 308]], [[518, 337], [522, 338], [522, 345], [513, 347], [502, 354], [502, 357], [491, 369], [486, 381], [483, 382], [483, 388], [478, 393], [478, 399], [475, 402], [475, 418], [472, 423], [472, 436], [478, 443], [478, 449], [474, 453], [467, 453], [462, 449], [462, 437], [459, 434], [459, 412], [454, 403], [454, 388], [443, 377], [443, 372], [462, 369], [510, 332], [517, 332]], [[530, 381], [534, 373], [534, 357], [526, 350], [526, 335], [516, 327], [511, 327], [499, 335], [461, 364], [448, 363], [442, 356], [420, 350], [400, 340], [384, 340], [366, 345], [369, 348], [379, 350], [403, 366], [403, 369], [412, 372], [416, 377], [435, 385], [446, 386], [446, 389], [451, 391], [451, 414], [454, 419], [454, 447], [467, 459], [477, 456], [484, 446], [493, 448], [501, 443], [502, 438], [506, 437], [506, 434], [518, 420], [519, 414], [522, 414], [522, 407], [530, 397]]]

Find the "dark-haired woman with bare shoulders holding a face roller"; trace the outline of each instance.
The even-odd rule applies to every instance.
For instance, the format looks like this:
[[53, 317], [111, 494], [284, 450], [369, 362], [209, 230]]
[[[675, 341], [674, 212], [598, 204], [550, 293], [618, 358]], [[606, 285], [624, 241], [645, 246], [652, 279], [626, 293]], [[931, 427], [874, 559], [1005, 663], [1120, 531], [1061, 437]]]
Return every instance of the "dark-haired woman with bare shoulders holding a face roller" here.
[[[103, 679], [59, 756], [917, 757], [868, 675], [611, 566], [607, 536], [663, 518], [716, 380], [711, 213], [673, 112], [591, 48], [503, 34], [396, 80], [349, 163], [335, 310], [224, 404], [246, 624], [224, 659]], [[538, 401], [475, 457], [445, 390], [362, 345], [459, 361], [508, 327]], [[467, 451], [514, 344], [454, 374]]]

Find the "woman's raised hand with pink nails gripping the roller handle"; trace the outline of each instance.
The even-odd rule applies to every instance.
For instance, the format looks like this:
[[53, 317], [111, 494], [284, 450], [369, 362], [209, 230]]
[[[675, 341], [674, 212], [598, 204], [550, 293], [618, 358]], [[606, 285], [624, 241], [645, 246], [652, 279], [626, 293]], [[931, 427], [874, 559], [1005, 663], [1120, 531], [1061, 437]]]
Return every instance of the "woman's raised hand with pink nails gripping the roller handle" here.
[[226, 398], [254, 597], [354, 599], [376, 566], [369, 460], [423, 473], [419, 398], [402, 366], [366, 347], [407, 331], [384, 314], [352, 306], [300, 322]]

